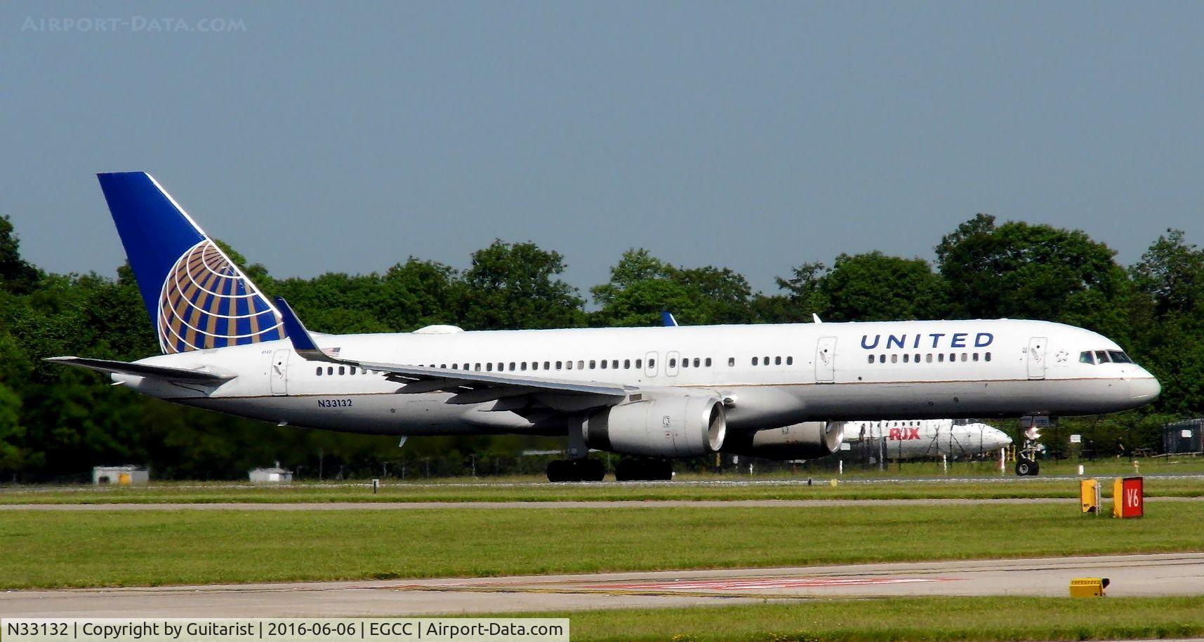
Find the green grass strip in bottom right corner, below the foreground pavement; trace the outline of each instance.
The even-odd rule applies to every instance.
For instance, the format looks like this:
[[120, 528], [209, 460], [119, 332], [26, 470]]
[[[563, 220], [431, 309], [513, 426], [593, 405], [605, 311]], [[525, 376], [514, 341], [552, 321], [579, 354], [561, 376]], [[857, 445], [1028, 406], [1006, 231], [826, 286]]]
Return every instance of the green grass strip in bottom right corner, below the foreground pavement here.
[[574, 642], [1119, 640], [1204, 635], [1204, 596], [831, 599], [523, 617], [567, 617]]

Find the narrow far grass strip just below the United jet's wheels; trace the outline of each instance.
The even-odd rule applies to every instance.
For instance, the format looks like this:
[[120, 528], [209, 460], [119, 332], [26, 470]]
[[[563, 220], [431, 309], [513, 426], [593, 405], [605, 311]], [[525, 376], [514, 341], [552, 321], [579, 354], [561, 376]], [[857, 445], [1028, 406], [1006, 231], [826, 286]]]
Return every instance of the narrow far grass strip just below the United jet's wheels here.
[[[1094, 466], [1104, 469], [1103, 465]], [[1088, 469], [1091, 475], [1132, 474], [1132, 466], [1116, 470]], [[1126, 470], [1127, 469], [1127, 470]], [[1184, 471], [1171, 465], [1144, 465], [1141, 472], [1156, 475]], [[153, 483], [146, 487], [42, 486], [0, 487], [0, 504], [119, 504], [119, 503], [301, 503], [301, 501], [555, 501], [654, 499], [738, 500], [738, 499], [936, 499], [936, 498], [1076, 498], [1075, 477], [931, 477], [922, 482], [891, 477], [850, 476], [832, 487], [828, 477], [709, 476], [683, 475], [667, 483], [548, 483], [532, 478], [442, 480], [396, 482], [386, 480], [378, 494], [365, 482], [294, 483], [255, 487], [247, 483]], [[745, 482], [745, 483], [733, 483]], [[754, 483], [746, 483], [754, 482]], [[1149, 476], [1150, 497], [1204, 497], [1204, 476]], [[1105, 495], [1109, 493], [1105, 489]]]

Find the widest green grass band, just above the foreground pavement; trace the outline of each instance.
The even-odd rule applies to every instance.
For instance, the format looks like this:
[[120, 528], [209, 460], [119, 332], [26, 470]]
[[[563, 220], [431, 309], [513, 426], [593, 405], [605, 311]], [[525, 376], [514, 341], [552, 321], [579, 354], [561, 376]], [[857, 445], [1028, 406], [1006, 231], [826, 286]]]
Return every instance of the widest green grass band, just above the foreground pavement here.
[[[7, 511], [0, 588], [786, 566], [1198, 551], [1194, 506]], [[851, 543], [855, 542], [855, 543]]]

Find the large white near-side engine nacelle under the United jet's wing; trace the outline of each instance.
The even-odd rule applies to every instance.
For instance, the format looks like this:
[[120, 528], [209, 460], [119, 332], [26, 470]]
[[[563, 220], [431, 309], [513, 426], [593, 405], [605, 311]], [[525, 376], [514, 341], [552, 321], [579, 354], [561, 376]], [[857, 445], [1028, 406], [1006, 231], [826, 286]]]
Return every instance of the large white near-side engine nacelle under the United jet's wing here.
[[582, 432], [592, 448], [645, 457], [694, 457], [724, 446], [727, 416], [718, 397], [645, 397], [590, 416]]

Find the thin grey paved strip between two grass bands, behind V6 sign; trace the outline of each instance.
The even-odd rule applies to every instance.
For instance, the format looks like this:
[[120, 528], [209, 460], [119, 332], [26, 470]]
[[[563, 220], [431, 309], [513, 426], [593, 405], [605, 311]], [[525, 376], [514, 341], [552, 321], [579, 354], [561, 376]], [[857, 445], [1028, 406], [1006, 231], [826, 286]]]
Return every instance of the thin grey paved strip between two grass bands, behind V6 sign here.
[[[1204, 501], [1204, 497], [1147, 497], [1145, 501]], [[0, 511], [403, 511], [420, 509], [815, 509], [822, 506], [960, 506], [1078, 504], [1079, 498], [996, 499], [647, 499], [622, 501], [299, 501], [209, 504], [0, 504]]]

